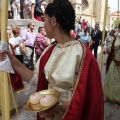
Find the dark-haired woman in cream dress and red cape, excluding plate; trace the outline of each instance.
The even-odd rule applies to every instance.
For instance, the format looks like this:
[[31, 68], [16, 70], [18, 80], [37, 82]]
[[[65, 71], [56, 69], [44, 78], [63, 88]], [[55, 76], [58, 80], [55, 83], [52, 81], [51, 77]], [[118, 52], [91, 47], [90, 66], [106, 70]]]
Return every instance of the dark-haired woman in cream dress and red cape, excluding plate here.
[[[67, 8], [67, 9], [66, 9]], [[54, 0], [44, 13], [44, 28], [55, 42], [36, 63], [36, 73], [27, 69], [9, 51], [12, 67], [34, 85], [37, 91], [51, 89], [60, 93], [59, 101], [37, 114], [37, 120], [104, 120], [104, 99], [97, 61], [82, 42], [70, 35], [75, 29], [75, 11], [68, 0]]]

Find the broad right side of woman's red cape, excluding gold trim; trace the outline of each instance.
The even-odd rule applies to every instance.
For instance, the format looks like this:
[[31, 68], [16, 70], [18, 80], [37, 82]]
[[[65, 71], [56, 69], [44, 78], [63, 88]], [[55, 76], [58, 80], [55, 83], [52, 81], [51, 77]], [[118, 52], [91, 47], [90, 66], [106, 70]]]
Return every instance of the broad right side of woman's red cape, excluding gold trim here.
[[87, 49], [80, 80], [63, 120], [104, 120], [104, 99], [98, 64]]

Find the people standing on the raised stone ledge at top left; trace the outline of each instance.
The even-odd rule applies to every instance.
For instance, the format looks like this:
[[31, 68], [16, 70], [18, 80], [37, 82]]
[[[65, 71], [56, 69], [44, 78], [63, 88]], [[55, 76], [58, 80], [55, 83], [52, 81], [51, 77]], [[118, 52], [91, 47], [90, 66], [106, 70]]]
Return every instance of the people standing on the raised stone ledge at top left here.
[[47, 0], [9, 0], [8, 19], [32, 19], [43, 21]]

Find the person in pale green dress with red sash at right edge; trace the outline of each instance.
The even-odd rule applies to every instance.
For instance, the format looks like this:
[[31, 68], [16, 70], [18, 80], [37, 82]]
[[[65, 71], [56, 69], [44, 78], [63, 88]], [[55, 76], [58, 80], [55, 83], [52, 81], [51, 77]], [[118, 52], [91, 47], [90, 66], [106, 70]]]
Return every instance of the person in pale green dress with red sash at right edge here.
[[107, 52], [111, 54], [112, 60], [104, 82], [105, 101], [112, 101], [120, 108], [120, 24], [116, 38], [108, 45]]

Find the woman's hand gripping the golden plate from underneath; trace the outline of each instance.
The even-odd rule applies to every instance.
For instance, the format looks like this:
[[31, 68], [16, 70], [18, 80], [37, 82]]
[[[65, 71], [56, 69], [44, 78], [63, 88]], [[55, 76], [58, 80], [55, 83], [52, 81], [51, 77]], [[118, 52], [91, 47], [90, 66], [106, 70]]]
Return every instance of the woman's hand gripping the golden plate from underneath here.
[[48, 110], [39, 112], [40, 118], [47, 118], [54, 116], [55, 113], [60, 112], [60, 106], [59, 103], [55, 104], [53, 107], [49, 108]]

